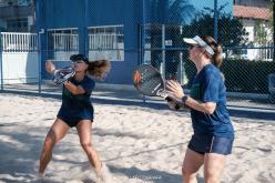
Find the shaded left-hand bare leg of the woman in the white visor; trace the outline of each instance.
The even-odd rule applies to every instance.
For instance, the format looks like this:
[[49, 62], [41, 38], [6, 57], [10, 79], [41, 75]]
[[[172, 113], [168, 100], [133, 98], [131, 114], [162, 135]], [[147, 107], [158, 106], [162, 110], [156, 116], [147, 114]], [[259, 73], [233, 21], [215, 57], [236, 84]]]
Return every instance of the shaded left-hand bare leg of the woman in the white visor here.
[[182, 175], [184, 183], [196, 183], [196, 172], [203, 164], [204, 155], [190, 149], [186, 150], [182, 165]]

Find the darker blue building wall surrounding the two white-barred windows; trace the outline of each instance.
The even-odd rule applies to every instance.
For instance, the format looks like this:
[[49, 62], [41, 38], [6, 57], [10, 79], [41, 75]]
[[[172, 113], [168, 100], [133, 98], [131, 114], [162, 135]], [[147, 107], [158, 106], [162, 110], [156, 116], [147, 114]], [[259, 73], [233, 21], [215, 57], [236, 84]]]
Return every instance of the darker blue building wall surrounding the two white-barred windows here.
[[[38, 0], [37, 28], [78, 28], [80, 52], [88, 53], [88, 27], [124, 26], [124, 61], [113, 61], [106, 79], [110, 83], [132, 83], [132, 71], [139, 64], [139, 24], [142, 3], [136, 0]], [[41, 37], [42, 67], [45, 60], [45, 34]], [[60, 63], [59, 63], [60, 64]], [[42, 68], [43, 77], [49, 77]]]

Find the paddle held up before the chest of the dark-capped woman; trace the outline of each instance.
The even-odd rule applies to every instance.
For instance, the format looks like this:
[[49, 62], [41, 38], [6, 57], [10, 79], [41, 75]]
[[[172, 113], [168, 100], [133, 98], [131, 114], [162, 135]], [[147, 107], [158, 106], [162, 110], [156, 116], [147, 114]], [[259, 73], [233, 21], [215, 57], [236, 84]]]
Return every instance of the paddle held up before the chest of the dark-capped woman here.
[[75, 74], [75, 71], [72, 68], [63, 68], [55, 70], [52, 77], [52, 81], [55, 84], [62, 84], [72, 78]]

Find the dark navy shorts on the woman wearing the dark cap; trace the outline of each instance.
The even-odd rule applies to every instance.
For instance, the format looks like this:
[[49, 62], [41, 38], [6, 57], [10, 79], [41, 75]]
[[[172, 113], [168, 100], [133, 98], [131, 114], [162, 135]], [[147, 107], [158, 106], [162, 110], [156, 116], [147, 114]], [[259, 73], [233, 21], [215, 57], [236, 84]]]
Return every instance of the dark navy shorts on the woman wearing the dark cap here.
[[86, 111], [82, 114], [70, 114], [68, 111], [60, 109], [57, 118], [64, 121], [70, 128], [77, 126], [81, 120], [90, 120], [93, 122], [93, 112]]

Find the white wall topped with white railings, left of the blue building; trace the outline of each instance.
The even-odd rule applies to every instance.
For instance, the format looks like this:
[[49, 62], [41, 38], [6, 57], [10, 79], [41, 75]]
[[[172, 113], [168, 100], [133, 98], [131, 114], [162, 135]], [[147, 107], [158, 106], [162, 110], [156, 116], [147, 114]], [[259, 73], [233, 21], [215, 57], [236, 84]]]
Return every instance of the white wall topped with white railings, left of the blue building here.
[[[1, 32], [3, 84], [39, 81], [38, 35], [35, 33]], [[0, 78], [1, 79], [1, 78]]]

